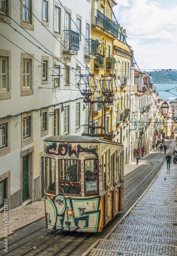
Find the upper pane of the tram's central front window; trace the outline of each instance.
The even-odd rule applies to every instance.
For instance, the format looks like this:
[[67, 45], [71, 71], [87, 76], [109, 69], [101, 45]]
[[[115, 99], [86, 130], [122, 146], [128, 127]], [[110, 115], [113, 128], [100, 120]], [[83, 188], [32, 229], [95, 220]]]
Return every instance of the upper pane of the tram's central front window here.
[[60, 181], [79, 182], [80, 160], [60, 160]]

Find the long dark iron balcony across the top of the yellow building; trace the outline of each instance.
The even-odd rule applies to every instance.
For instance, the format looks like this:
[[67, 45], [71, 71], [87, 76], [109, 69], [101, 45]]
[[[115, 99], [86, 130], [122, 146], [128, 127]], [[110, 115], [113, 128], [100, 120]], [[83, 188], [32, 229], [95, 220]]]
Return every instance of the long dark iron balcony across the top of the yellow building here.
[[111, 33], [113, 36], [118, 37], [117, 25], [97, 9], [92, 9], [92, 26], [99, 26]]

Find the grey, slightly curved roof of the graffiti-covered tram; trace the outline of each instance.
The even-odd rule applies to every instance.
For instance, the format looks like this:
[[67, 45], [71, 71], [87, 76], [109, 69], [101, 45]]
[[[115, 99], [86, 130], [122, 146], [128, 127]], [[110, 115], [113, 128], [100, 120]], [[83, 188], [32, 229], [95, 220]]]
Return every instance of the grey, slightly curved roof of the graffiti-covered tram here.
[[89, 142], [89, 143], [108, 143], [108, 144], [119, 144], [122, 145], [121, 143], [115, 142], [115, 141], [110, 141], [110, 140], [104, 140], [104, 139], [99, 139], [95, 137], [90, 137], [90, 136], [78, 136], [78, 135], [63, 135], [63, 136], [50, 136], [44, 141], [51, 141], [51, 142]]

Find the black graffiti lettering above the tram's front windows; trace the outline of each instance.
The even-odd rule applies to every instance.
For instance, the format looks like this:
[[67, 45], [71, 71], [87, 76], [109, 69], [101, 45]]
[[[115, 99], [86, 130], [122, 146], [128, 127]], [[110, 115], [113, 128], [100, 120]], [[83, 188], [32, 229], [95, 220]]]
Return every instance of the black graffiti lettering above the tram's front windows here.
[[45, 147], [45, 153], [57, 156], [66, 156], [68, 154], [69, 157], [71, 157], [73, 154], [76, 157], [79, 157], [80, 154], [83, 156], [85, 153], [87, 153], [93, 154], [96, 158], [98, 158], [97, 147], [92, 145], [88, 147], [82, 147], [80, 144], [78, 144], [77, 146], [72, 147], [71, 144], [60, 143], [57, 147], [57, 143], [53, 143], [52, 145]]

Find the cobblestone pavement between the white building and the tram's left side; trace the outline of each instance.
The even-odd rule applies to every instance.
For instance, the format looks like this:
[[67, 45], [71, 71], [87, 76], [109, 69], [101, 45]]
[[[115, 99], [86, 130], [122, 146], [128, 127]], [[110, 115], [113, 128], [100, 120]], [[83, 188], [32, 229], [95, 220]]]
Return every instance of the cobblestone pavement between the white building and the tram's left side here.
[[45, 216], [44, 200], [37, 201], [27, 206], [18, 206], [8, 211], [8, 223], [4, 222], [4, 212], [0, 214], [0, 240], [4, 239], [5, 226], [8, 226], [8, 236], [14, 234], [14, 231], [26, 227], [31, 223], [38, 221]]

